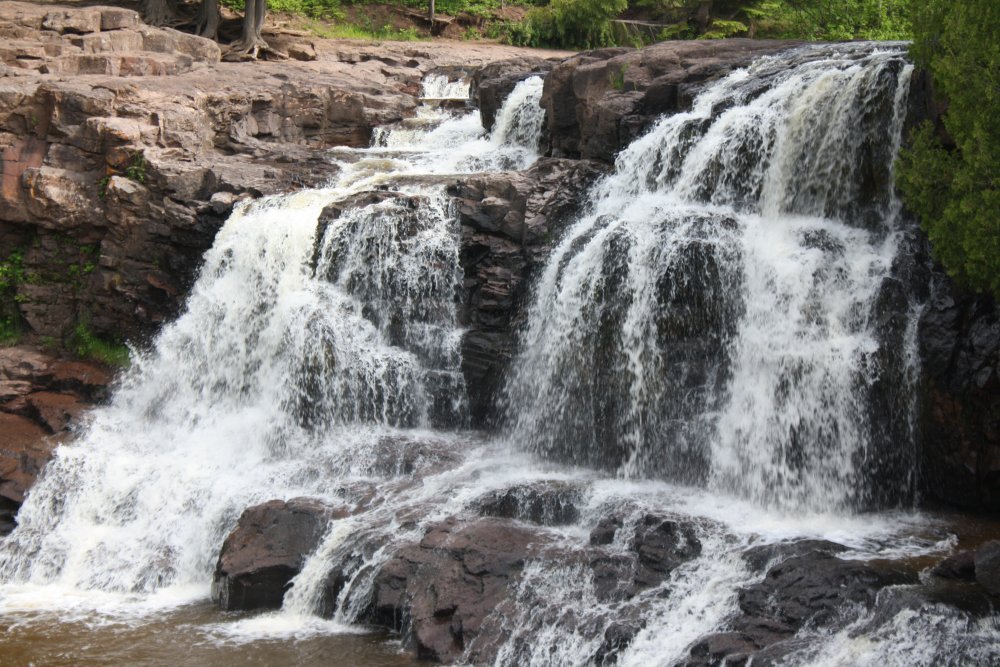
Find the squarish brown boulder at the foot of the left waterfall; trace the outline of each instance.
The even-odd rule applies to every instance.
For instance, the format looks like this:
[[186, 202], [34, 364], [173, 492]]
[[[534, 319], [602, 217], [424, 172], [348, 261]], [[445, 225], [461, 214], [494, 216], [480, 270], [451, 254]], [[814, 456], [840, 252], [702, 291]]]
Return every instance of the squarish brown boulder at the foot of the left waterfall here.
[[311, 498], [271, 500], [250, 507], [229, 534], [212, 582], [223, 610], [277, 609], [306, 556], [315, 551], [334, 510]]

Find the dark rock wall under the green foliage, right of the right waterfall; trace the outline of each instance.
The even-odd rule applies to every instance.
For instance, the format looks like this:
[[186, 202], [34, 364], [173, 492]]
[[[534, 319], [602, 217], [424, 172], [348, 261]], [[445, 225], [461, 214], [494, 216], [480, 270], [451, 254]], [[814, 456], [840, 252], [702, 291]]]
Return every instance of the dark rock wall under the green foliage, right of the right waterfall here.
[[936, 275], [920, 319], [921, 478], [947, 503], [1000, 510], [1000, 313]]

